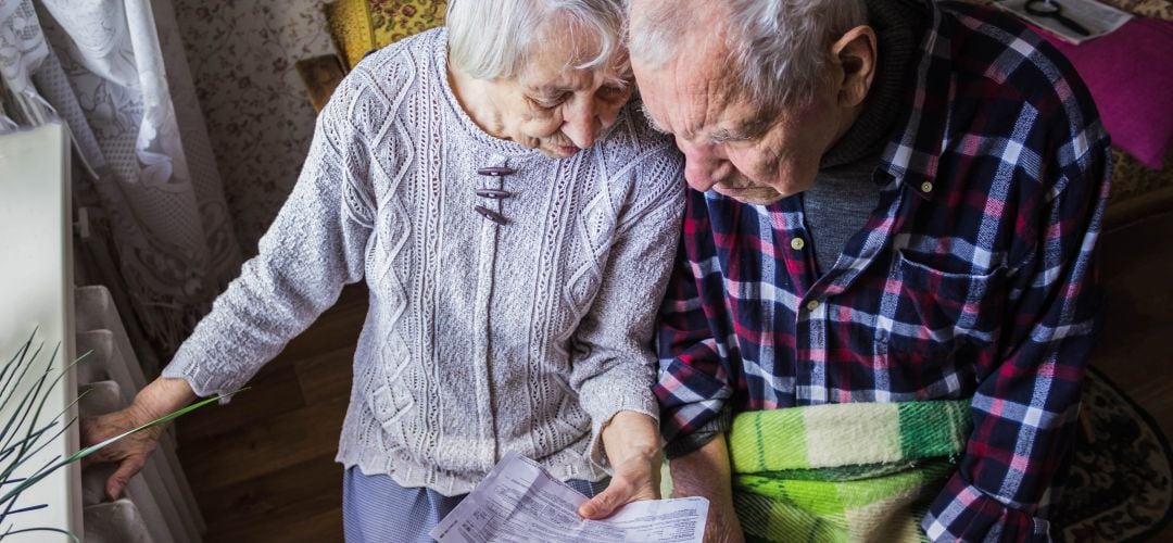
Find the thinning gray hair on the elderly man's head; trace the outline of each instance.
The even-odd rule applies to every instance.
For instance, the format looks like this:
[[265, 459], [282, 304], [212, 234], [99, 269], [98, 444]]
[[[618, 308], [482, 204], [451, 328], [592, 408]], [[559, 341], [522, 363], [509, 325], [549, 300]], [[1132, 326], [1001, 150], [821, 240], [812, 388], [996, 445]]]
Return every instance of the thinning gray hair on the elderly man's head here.
[[[707, 0], [701, 0], [707, 1]], [[811, 100], [830, 45], [867, 23], [863, 0], [726, 0], [727, 18], [698, 21], [689, 1], [650, 0], [630, 29], [632, 59], [657, 69], [683, 53], [690, 38], [725, 33], [733, 90], [765, 110]]]

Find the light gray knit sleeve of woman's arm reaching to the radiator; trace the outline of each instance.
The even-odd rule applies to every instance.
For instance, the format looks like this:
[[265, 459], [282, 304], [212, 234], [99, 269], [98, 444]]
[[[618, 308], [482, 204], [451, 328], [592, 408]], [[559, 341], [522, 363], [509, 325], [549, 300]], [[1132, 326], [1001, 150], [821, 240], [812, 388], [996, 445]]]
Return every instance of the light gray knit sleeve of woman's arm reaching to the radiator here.
[[259, 253], [216, 299], [163, 376], [185, 379], [201, 396], [236, 391], [332, 306], [345, 284], [362, 278], [373, 213], [367, 154], [351, 118], [361, 95], [355, 77], [338, 87]]

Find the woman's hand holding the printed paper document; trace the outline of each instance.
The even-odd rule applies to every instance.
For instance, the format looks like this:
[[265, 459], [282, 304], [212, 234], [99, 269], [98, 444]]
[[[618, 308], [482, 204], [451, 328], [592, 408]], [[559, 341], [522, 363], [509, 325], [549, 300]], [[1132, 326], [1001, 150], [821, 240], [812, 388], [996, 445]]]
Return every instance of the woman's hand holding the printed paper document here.
[[615, 475], [606, 490], [583, 503], [578, 514], [606, 518], [628, 503], [658, 500], [662, 455], [656, 421], [643, 413], [619, 412], [603, 428], [602, 439]]

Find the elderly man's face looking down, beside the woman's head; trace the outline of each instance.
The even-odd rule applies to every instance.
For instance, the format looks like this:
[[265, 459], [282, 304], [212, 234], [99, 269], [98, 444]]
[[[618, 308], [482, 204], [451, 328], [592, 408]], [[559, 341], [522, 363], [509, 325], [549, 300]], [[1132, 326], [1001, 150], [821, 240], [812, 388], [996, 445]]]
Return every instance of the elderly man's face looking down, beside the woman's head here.
[[658, 69], [632, 59], [632, 69], [652, 125], [672, 134], [685, 155], [689, 185], [751, 204], [811, 188], [841, 134], [834, 100], [816, 93], [809, 103], [762, 116], [732, 91], [723, 35], [698, 33], [687, 49]]

